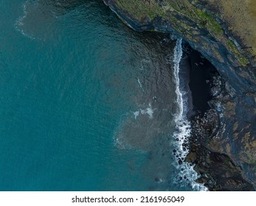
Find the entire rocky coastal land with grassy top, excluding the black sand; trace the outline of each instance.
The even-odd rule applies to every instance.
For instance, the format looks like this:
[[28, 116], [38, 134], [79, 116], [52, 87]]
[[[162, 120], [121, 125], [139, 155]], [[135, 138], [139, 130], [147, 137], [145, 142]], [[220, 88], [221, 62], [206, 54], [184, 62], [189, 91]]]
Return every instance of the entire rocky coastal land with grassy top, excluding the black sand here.
[[103, 1], [136, 31], [182, 38], [217, 68], [221, 89], [212, 94], [211, 110], [193, 120], [187, 160], [212, 191], [255, 190], [256, 1]]

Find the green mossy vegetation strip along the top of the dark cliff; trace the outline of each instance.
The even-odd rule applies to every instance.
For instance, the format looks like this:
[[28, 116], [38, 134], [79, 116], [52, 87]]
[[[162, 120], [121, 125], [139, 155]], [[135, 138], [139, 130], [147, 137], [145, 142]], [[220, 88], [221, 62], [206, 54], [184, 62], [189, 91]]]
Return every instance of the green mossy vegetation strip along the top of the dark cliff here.
[[[246, 66], [249, 60], [245, 55], [241, 54], [238, 47], [235, 46], [229, 38], [224, 35], [221, 24], [207, 10], [200, 10], [195, 4], [191, 4], [189, 0], [114, 0], [117, 7], [128, 13], [133, 20], [136, 21], [153, 21], [157, 16], [173, 23], [174, 29], [181, 34], [189, 37], [200, 29], [210, 32], [213, 38], [224, 43], [226, 48], [235, 55], [241, 65]], [[197, 1], [193, 1], [196, 3]], [[187, 22], [186, 22], [187, 19]], [[193, 25], [198, 25], [195, 28]]]

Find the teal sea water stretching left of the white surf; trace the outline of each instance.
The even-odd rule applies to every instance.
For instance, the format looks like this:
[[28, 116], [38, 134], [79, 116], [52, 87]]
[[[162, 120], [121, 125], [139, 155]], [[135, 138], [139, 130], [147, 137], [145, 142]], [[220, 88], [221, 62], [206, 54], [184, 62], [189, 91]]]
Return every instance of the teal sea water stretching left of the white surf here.
[[176, 41], [100, 0], [0, 0], [0, 20], [1, 191], [195, 190], [173, 155]]

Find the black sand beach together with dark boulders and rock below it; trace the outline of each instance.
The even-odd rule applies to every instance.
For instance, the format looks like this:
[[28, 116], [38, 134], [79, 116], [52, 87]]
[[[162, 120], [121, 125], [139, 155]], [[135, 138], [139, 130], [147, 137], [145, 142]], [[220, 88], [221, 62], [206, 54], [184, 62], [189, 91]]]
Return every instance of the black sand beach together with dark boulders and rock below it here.
[[188, 114], [191, 122], [190, 152], [185, 162], [195, 164], [193, 169], [200, 175], [196, 182], [209, 191], [255, 191], [230, 157], [207, 148], [207, 141], [212, 141], [221, 131], [221, 116], [224, 114], [216, 112], [218, 105], [214, 101], [225, 92], [225, 82], [198, 51], [190, 46], [185, 51], [187, 63], [183, 65], [190, 68], [189, 88], [193, 102], [193, 110]]

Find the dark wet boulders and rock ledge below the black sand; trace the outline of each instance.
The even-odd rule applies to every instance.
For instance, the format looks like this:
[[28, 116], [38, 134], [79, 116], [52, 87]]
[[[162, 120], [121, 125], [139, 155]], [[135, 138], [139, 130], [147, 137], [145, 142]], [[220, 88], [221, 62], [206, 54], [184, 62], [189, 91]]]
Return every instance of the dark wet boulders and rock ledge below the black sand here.
[[[232, 118], [235, 117], [233, 104], [237, 101], [231, 101], [232, 97], [226, 92], [224, 79], [218, 73], [212, 73], [208, 84], [211, 86], [209, 93], [215, 93], [212, 93], [211, 99], [208, 100], [210, 109], [198, 112], [191, 118], [190, 152], [185, 161], [196, 164], [194, 170], [201, 175], [197, 182], [204, 184], [210, 191], [253, 191], [254, 187], [245, 178], [242, 167], [232, 160], [230, 153], [224, 152], [232, 150], [232, 136], [226, 133], [231, 131], [227, 130], [225, 125], [228, 124], [227, 121], [232, 123]], [[222, 110], [226, 104], [224, 102], [229, 102], [228, 107], [225, 106], [229, 110], [226, 115], [225, 109]], [[200, 109], [200, 104], [198, 108]], [[238, 125], [235, 124], [233, 129], [238, 129]], [[220, 141], [222, 129], [226, 133], [224, 140], [229, 140], [229, 146], [224, 149], [221, 145], [223, 141]]]

